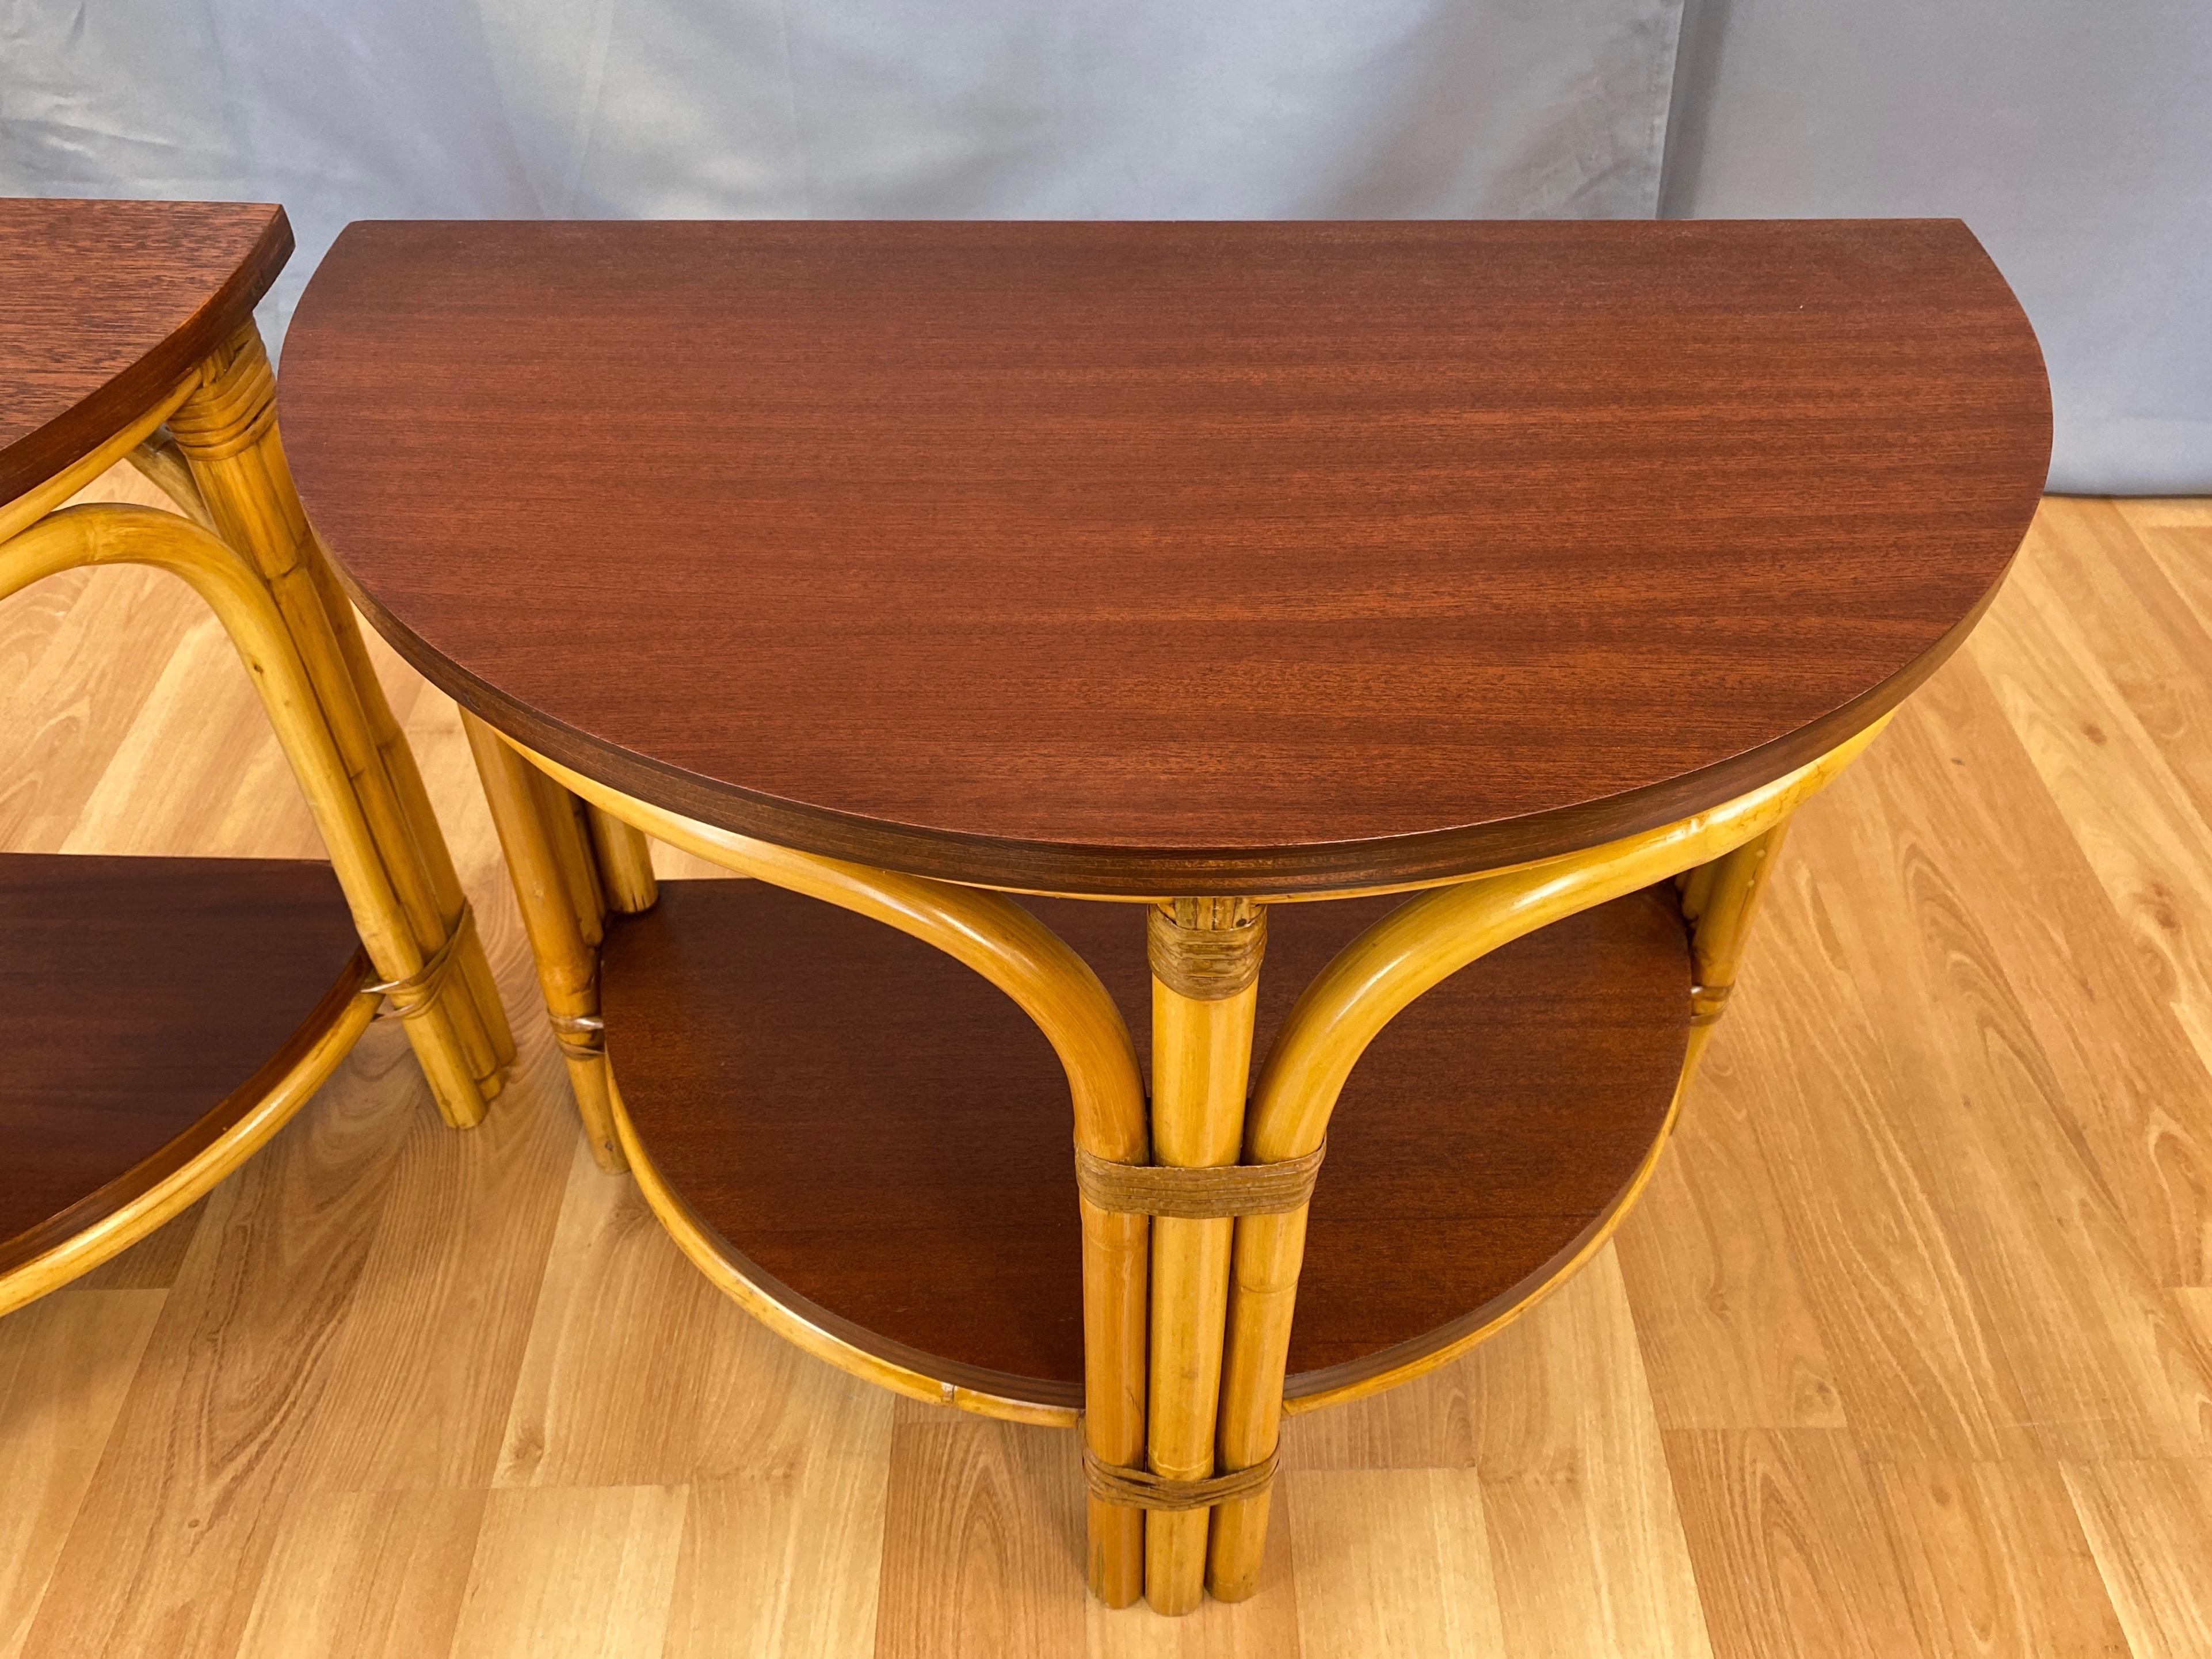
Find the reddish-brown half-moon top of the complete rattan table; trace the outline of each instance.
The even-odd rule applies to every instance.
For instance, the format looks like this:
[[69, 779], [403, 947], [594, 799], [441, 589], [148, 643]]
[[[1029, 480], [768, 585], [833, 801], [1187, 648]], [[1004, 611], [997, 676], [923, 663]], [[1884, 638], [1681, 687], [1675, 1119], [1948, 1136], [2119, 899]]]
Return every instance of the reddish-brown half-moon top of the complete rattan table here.
[[2051, 447], [1958, 221], [356, 223], [279, 409], [522, 743], [1071, 894], [1438, 880], [1814, 759]]

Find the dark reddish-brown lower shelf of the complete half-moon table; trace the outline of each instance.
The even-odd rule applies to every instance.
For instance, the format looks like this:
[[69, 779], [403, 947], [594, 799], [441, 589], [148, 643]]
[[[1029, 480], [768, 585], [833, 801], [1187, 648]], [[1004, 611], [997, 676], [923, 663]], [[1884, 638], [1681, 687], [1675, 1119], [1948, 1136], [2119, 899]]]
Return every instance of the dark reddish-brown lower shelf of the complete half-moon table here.
[[[1398, 900], [1270, 916], [1256, 1051]], [[1144, 914], [1035, 900], [1150, 1035]], [[1356, 1365], [1509, 1296], [1650, 1148], [1681, 1071], [1672, 898], [1557, 922], [1369, 1048], [1329, 1130], [1292, 1371]], [[933, 1376], [1077, 1402], [1073, 1121], [1053, 1051], [942, 953], [765, 883], [664, 883], [604, 956], [608, 1055], [655, 1166], [754, 1276]], [[863, 1011], [865, 1018], [854, 1018]], [[993, 1380], [993, 1376], [998, 1380]], [[1298, 1391], [1294, 1378], [1292, 1391]]]

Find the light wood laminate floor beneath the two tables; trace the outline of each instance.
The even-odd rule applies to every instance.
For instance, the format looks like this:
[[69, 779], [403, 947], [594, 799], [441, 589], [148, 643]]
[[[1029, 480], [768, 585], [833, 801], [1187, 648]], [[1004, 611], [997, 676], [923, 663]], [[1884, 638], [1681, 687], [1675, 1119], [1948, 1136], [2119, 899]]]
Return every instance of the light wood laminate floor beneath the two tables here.
[[[378, 1026], [0, 1321], [0, 1659], [2212, 1655], [2212, 504], [2046, 502], [1801, 814], [1617, 1243], [1298, 1418], [1267, 1586], [1183, 1621], [1084, 1599], [1073, 1436], [799, 1356], [593, 1168], [453, 708], [380, 659], [520, 1068], [453, 1135]], [[168, 577], [0, 608], [0, 845], [319, 852]]]

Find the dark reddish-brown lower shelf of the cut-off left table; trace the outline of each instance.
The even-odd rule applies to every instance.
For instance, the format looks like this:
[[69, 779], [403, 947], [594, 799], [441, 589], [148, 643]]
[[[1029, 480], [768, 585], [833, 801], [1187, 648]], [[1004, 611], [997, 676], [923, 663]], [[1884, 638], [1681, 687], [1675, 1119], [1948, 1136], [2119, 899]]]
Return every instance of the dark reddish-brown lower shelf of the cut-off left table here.
[[0, 856], [0, 1272], [212, 1144], [367, 978], [323, 863]]

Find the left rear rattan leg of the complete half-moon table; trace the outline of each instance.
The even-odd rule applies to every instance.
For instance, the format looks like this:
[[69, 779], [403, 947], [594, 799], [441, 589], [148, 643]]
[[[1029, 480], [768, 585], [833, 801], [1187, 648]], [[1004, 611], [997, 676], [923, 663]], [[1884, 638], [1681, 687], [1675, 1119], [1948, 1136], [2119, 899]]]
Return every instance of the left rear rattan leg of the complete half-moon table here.
[[515, 883], [522, 927], [538, 962], [538, 987], [546, 998], [553, 1037], [568, 1062], [568, 1084], [575, 1088], [591, 1155], [602, 1170], [626, 1170], [628, 1159], [608, 1102], [606, 1033], [597, 1024], [599, 922], [591, 911], [580, 914], [575, 902], [573, 796], [467, 710], [460, 726], [469, 734], [469, 752], [500, 832], [500, 852], [507, 854]]

